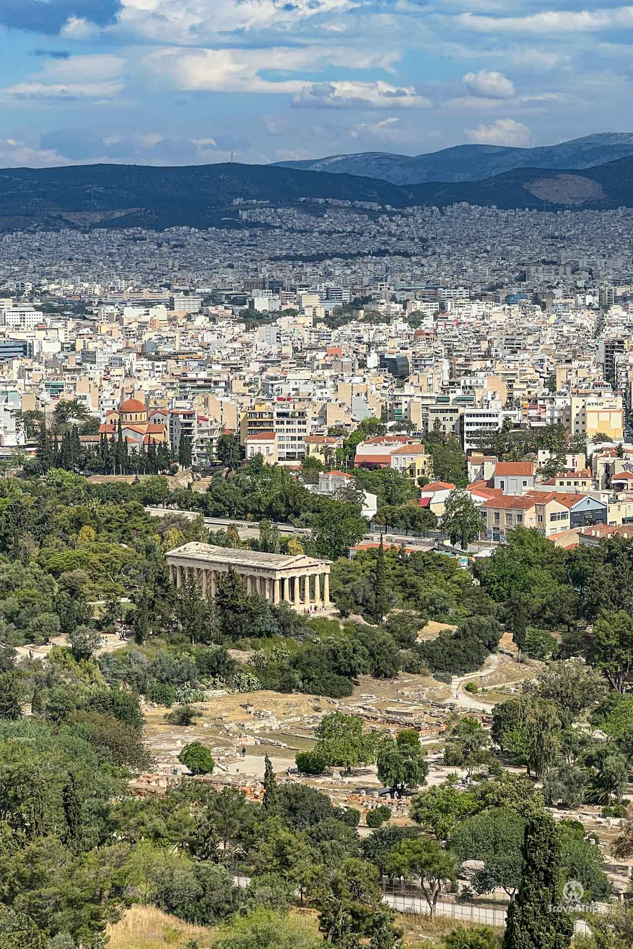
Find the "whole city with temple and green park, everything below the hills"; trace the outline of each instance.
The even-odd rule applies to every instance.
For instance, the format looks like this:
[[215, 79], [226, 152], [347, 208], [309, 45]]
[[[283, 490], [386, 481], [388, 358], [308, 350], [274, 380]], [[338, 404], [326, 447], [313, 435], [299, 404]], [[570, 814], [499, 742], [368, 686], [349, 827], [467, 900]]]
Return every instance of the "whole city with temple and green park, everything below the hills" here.
[[630, 949], [633, 211], [0, 241], [0, 947]]

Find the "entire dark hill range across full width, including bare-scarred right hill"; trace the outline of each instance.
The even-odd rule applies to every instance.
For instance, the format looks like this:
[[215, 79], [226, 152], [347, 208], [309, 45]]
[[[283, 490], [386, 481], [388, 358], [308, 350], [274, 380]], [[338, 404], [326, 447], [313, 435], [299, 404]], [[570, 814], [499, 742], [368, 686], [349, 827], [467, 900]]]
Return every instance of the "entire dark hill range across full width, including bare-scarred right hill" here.
[[292, 205], [302, 197], [372, 201], [396, 209], [459, 201], [536, 210], [633, 207], [633, 156], [580, 171], [514, 168], [483, 181], [406, 186], [272, 165], [12, 168], [0, 171], [0, 231], [239, 227], [235, 198]]

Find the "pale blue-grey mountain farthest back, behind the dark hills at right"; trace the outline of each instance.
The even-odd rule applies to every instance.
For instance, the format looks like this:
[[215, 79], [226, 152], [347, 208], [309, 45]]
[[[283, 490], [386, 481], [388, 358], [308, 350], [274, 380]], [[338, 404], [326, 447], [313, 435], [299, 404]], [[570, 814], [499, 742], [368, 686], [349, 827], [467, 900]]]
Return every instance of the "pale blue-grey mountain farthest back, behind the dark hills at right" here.
[[456, 145], [428, 155], [391, 155], [361, 152], [307, 161], [279, 161], [282, 168], [299, 171], [380, 177], [392, 184], [424, 181], [479, 181], [513, 168], [577, 170], [633, 155], [633, 133], [605, 132], [542, 148], [503, 145]]

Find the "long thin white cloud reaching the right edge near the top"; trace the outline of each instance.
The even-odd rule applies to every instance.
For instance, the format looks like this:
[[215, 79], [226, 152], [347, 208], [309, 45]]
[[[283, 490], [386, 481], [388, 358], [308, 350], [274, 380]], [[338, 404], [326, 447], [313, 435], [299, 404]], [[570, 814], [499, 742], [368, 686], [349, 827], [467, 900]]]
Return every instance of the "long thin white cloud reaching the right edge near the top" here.
[[633, 27], [633, 7], [594, 10], [542, 10], [529, 16], [479, 16], [460, 13], [453, 19], [462, 28], [478, 33], [578, 33]]

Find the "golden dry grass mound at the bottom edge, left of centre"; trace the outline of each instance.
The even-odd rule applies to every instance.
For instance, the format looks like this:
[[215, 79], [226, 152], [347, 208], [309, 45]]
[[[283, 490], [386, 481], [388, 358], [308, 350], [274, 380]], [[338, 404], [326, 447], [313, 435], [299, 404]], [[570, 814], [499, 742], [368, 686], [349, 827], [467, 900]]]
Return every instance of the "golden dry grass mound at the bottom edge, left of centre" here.
[[110, 937], [108, 949], [165, 949], [183, 947], [189, 940], [198, 940], [201, 949], [211, 945], [212, 931], [192, 926], [176, 916], [162, 913], [155, 906], [134, 905], [123, 919], [106, 930]]

